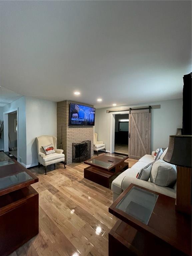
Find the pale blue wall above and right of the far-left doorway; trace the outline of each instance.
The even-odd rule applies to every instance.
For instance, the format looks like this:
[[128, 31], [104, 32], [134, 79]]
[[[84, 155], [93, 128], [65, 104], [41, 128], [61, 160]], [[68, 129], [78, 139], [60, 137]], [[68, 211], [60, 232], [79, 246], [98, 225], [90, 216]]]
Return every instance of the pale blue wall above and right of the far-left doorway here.
[[3, 112], [12, 111], [16, 108], [18, 108], [18, 156], [21, 157], [21, 162], [26, 165], [26, 111], [24, 96], [5, 105]]

